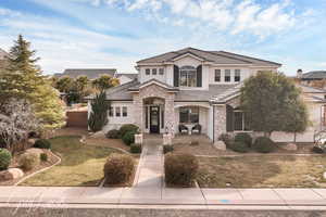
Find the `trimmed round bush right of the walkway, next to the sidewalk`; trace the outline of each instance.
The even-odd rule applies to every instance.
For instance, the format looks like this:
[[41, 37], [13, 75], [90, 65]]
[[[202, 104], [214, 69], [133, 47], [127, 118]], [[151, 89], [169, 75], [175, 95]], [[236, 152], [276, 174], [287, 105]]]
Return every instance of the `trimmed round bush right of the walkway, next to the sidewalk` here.
[[166, 154], [164, 161], [167, 184], [191, 187], [197, 177], [198, 161], [191, 154]]

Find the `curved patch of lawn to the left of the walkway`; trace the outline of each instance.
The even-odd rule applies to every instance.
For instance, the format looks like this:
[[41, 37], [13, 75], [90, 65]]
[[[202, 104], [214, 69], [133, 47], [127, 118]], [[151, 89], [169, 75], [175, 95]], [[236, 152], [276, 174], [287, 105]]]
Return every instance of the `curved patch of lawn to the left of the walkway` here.
[[79, 136], [51, 139], [52, 151], [60, 154], [61, 164], [30, 177], [21, 186], [98, 186], [103, 177], [105, 159], [117, 151], [85, 145], [79, 139]]

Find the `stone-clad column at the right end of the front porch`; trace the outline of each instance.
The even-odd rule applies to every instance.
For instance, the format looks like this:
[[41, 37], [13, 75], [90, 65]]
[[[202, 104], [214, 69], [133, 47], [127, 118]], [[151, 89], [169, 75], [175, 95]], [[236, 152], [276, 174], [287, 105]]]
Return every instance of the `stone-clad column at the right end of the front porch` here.
[[214, 105], [214, 141], [226, 133], [226, 105]]

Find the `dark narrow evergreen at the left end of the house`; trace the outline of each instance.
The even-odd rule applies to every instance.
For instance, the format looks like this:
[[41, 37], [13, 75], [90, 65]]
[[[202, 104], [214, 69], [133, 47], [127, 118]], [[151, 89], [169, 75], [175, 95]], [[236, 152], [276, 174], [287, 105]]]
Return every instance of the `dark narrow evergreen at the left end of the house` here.
[[88, 126], [91, 131], [100, 131], [108, 124], [108, 110], [110, 102], [106, 101], [105, 92], [101, 91], [91, 102], [91, 112], [88, 118]]

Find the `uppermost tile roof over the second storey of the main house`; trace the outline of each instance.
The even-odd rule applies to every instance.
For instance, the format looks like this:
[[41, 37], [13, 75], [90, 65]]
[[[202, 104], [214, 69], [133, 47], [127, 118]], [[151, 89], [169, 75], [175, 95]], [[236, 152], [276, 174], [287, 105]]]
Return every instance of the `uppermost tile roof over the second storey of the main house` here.
[[225, 51], [203, 51], [193, 48], [186, 48], [178, 51], [172, 51], [172, 52], [163, 53], [161, 55], [155, 55], [153, 58], [138, 61], [137, 64], [172, 62], [176, 58], [188, 53], [196, 55], [204, 61], [212, 62], [214, 64], [253, 64], [258, 66], [277, 66], [277, 67], [281, 66], [281, 64], [279, 63], [244, 56], [236, 53], [230, 53]]

